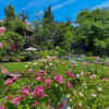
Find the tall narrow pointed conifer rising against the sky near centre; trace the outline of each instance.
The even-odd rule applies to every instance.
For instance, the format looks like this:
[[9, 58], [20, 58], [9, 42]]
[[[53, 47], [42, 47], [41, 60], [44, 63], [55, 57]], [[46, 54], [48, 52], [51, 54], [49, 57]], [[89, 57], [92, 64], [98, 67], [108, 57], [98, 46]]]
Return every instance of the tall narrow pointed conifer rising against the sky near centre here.
[[47, 10], [44, 10], [44, 19], [43, 19], [43, 40], [45, 40], [44, 45], [49, 44], [51, 47], [52, 35], [56, 32], [55, 27], [56, 26], [53, 21], [53, 14], [51, 11], [51, 7], [49, 5]]

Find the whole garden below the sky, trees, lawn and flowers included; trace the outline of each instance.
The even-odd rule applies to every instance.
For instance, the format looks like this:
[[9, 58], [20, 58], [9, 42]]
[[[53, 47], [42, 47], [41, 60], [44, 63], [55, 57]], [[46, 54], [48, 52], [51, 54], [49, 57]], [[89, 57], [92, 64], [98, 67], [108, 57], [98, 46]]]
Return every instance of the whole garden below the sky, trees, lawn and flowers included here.
[[51, 7], [32, 23], [11, 4], [4, 11], [0, 109], [109, 109], [109, 11], [81, 12], [78, 26], [55, 22]]

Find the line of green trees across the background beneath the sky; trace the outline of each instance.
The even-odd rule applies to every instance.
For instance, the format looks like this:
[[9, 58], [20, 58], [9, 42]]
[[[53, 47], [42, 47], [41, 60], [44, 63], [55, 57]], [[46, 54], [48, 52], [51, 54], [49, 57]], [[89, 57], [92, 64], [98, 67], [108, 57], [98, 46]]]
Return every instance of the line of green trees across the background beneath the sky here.
[[11, 4], [4, 9], [4, 13], [5, 17], [0, 26], [4, 26], [7, 31], [0, 41], [4, 43], [7, 51], [9, 46], [14, 45], [16, 52], [27, 47], [48, 50], [60, 47], [66, 52], [73, 50], [76, 53], [109, 55], [107, 9], [83, 10], [77, 14], [75, 23], [70, 20], [55, 21], [50, 5], [44, 10], [40, 21], [36, 19], [32, 23], [27, 22], [27, 12], [21, 11], [16, 14]]

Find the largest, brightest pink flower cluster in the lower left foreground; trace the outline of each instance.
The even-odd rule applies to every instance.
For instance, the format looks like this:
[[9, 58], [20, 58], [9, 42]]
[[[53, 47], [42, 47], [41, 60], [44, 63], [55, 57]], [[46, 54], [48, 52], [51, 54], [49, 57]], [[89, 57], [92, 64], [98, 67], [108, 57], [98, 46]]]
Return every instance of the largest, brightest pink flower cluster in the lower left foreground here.
[[40, 85], [38, 85], [34, 92], [33, 92], [33, 96], [34, 98], [37, 97], [37, 95], [39, 95], [41, 98], [44, 98], [45, 94], [44, 94], [44, 87], [41, 87]]

